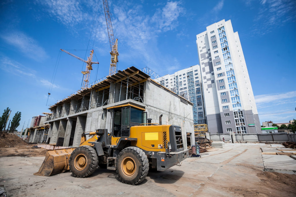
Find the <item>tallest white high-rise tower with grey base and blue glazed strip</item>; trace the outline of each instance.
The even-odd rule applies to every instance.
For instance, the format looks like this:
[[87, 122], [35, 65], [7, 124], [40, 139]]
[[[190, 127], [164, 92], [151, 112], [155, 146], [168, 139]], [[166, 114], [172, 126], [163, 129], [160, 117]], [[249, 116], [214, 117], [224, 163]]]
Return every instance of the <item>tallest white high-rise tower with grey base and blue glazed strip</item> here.
[[242, 46], [231, 21], [207, 26], [196, 38], [209, 132], [261, 133]]

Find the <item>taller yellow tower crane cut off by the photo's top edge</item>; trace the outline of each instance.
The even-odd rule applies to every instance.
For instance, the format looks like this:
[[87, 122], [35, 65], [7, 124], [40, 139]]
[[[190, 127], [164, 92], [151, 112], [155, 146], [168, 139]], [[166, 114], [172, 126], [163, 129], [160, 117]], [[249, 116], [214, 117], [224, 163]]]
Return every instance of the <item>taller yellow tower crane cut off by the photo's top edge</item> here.
[[106, 17], [106, 24], [107, 24], [107, 30], [108, 30], [108, 36], [109, 36], [109, 41], [110, 41], [110, 48], [111, 48], [111, 61], [110, 61], [110, 70], [109, 70], [109, 76], [115, 74], [116, 72], [116, 66], [118, 62], [118, 47], [117, 47], [117, 42], [118, 39], [114, 38], [114, 33], [113, 33], [113, 25], [111, 21], [111, 13], [109, 11], [109, 4], [107, 0], [103, 0], [104, 4], [104, 11], [105, 11], [105, 17]]

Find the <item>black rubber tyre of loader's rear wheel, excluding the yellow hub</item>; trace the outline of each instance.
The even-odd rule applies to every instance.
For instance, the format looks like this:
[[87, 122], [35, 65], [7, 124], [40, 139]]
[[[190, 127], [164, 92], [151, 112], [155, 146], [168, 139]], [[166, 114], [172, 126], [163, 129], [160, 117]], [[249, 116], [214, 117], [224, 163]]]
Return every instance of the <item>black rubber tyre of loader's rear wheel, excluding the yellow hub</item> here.
[[135, 146], [130, 146], [130, 147], [123, 149], [119, 153], [118, 158], [126, 152], [134, 154], [136, 156], [136, 158], [139, 160], [139, 162], [140, 162], [139, 174], [137, 175], [136, 179], [134, 179], [132, 182], [125, 180], [123, 177], [120, 176], [120, 174], [118, 172], [118, 168], [120, 167], [120, 164], [117, 163], [118, 159], [116, 159], [116, 166], [117, 166], [116, 172], [117, 172], [119, 179], [121, 180], [122, 183], [126, 183], [129, 185], [137, 185], [137, 184], [141, 183], [146, 178], [148, 171], [149, 171], [149, 161], [148, 161], [148, 158], [147, 158], [146, 154], [144, 153], [144, 151], [138, 147], [135, 147]]

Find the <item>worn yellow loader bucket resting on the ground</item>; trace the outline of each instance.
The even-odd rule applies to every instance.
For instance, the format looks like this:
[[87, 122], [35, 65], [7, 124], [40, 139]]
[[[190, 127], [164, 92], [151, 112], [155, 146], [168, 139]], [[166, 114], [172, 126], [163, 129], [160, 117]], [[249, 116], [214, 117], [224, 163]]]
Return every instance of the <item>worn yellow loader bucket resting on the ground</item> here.
[[38, 172], [34, 175], [51, 176], [69, 169], [69, 158], [75, 148], [49, 150]]

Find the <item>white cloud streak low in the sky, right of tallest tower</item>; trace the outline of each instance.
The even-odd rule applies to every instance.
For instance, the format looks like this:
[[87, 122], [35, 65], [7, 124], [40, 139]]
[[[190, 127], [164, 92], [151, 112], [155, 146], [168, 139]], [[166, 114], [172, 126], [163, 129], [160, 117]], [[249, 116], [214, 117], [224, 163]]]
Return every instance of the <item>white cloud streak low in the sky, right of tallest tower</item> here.
[[296, 91], [277, 93], [277, 94], [263, 94], [255, 96], [255, 101], [257, 104], [270, 103], [270, 102], [281, 102], [284, 99], [290, 99], [296, 97]]

